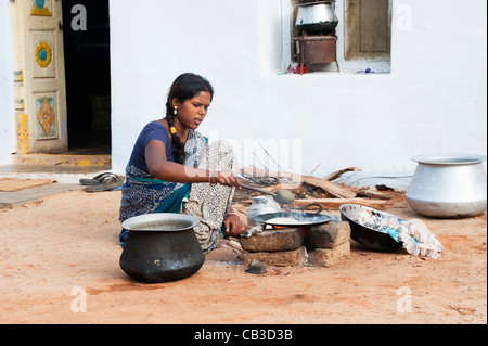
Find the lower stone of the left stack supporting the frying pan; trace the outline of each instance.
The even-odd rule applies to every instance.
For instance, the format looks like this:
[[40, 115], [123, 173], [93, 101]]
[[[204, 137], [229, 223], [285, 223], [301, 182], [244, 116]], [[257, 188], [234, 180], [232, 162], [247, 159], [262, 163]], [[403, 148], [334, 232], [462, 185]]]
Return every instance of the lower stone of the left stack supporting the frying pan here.
[[244, 254], [244, 265], [249, 265], [253, 259], [267, 266], [275, 267], [297, 267], [304, 266], [307, 261], [307, 249], [300, 246], [297, 249], [272, 252], [272, 253], [246, 253]]

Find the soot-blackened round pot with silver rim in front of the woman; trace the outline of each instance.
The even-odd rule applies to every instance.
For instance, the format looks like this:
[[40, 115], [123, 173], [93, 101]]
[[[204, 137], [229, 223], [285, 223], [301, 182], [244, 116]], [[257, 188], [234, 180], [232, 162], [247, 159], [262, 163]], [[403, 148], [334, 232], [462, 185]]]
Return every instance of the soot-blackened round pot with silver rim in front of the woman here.
[[145, 283], [182, 280], [196, 273], [205, 261], [193, 228], [195, 216], [170, 213], [140, 215], [125, 220], [128, 238], [120, 268]]

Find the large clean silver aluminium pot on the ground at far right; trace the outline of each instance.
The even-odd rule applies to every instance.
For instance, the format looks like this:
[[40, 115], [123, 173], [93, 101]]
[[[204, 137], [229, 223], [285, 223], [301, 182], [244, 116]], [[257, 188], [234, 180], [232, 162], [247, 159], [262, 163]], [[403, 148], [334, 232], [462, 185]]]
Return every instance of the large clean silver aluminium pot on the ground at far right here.
[[406, 198], [418, 214], [433, 218], [464, 218], [487, 208], [486, 156], [424, 155], [418, 163]]

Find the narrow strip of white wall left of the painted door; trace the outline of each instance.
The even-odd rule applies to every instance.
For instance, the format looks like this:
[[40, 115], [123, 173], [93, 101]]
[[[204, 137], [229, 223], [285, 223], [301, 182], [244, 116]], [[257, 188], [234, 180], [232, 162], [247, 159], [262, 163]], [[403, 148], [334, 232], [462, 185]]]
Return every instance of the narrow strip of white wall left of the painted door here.
[[15, 97], [10, 2], [0, 1], [0, 165], [15, 152]]

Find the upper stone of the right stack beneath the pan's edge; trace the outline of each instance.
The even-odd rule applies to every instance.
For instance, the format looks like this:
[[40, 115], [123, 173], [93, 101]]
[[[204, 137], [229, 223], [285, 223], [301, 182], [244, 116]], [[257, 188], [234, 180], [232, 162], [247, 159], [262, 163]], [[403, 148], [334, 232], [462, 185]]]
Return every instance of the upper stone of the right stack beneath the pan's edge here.
[[313, 248], [334, 248], [350, 238], [350, 226], [347, 221], [331, 221], [313, 226], [309, 231], [310, 246]]

